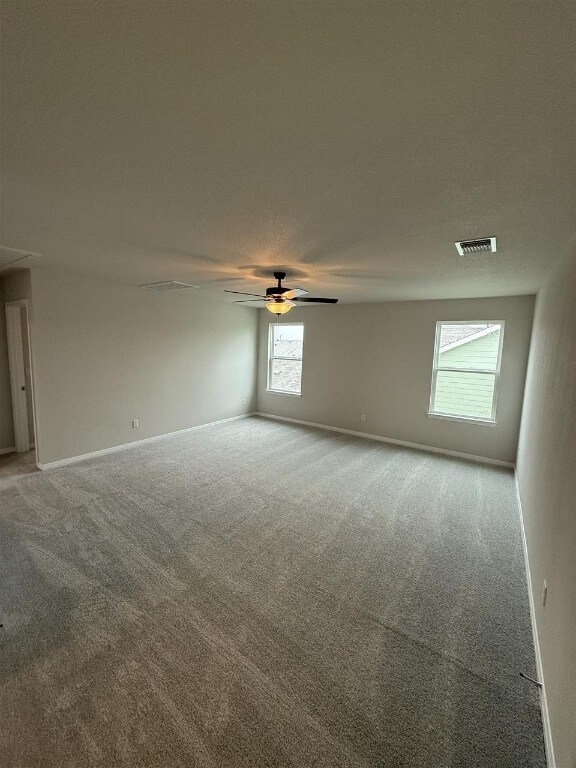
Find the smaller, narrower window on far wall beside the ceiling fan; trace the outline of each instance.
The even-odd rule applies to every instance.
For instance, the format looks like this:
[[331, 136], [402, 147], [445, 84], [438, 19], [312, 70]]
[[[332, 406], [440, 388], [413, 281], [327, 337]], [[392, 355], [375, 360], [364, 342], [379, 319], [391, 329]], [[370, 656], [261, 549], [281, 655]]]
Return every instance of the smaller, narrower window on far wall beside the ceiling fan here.
[[303, 323], [270, 323], [268, 390], [299, 395], [302, 382]]

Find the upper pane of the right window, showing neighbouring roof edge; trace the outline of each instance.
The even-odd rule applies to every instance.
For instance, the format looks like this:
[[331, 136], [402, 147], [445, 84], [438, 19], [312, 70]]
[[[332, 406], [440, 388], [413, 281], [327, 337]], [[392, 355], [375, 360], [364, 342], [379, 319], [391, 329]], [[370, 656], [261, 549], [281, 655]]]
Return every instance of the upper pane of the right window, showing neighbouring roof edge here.
[[500, 347], [499, 323], [463, 325], [444, 323], [440, 330], [438, 368], [495, 371]]

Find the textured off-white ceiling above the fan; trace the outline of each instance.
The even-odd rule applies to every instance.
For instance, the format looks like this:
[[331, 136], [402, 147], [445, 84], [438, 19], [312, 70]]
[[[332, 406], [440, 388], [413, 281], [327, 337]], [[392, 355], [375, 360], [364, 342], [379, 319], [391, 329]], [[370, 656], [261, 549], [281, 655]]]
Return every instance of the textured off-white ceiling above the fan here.
[[496, 296], [576, 229], [573, 0], [3, 6], [1, 241], [44, 264]]

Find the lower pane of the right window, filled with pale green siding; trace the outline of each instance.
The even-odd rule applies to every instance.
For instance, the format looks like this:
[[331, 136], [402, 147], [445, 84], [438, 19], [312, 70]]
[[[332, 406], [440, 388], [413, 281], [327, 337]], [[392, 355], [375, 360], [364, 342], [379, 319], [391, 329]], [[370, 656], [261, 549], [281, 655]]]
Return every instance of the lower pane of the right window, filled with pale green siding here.
[[451, 416], [492, 418], [496, 377], [492, 373], [438, 371], [434, 392], [434, 413]]

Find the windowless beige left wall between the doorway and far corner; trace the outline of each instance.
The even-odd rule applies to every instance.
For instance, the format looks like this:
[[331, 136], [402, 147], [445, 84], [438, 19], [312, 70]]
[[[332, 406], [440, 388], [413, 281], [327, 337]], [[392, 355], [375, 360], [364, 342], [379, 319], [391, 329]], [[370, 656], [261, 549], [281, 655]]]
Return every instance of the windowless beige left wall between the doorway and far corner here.
[[32, 295], [41, 464], [253, 410], [256, 312], [49, 269]]

